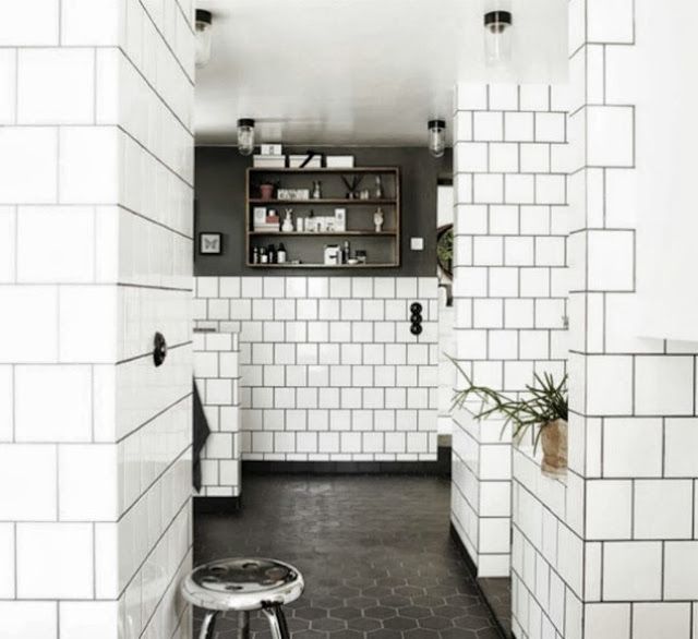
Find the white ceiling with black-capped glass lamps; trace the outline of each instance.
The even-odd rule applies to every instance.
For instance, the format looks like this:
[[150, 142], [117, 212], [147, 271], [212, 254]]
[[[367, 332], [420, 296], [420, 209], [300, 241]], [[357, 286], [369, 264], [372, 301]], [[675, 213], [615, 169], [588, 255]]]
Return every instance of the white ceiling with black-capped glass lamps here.
[[421, 145], [429, 118], [449, 118], [457, 81], [564, 79], [567, 0], [502, 0], [515, 48], [497, 77], [484, 65], [491, 1], [198, 0], [214, 26], [197, 143], [233, 143], [238, 118], [254, 118], [266, 142]]

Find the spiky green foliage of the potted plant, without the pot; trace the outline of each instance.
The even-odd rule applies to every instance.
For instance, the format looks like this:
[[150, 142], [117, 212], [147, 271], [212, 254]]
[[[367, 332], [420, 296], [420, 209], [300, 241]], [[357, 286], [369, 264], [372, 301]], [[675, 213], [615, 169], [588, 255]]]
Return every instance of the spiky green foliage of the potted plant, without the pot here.
[[567, 375], [559, 384], [556, 384], [550, 373], [543, 376], [535, 374], [535, 383], [527, 385], [525, 397], [512, 399], [498, 390], [486, 386], [477, 386], [472, 383], [462, 366], [453, 358], [448, 358], [458, 369], [467, 387], [456, 389], [450, 410], [462, 408], [466, 401], [477, 398], [481, 402], [480, 411], [474, 415], [477, 420], [486, 419], [493, 414], [505, 418], [502, 434], [509, 424], [513, 426], [513, 437], [520, 442], [531, 427], [538, 426], [533, 436], [533, 450], [538, 449], [538, 443], [546, 424], [556, 420], [567, 421]]

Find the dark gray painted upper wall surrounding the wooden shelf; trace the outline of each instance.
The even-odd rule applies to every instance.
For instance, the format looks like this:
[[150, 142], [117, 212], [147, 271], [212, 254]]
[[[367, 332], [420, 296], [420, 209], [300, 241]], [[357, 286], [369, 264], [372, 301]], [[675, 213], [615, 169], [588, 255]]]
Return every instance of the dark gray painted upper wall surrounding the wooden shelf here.
[[[306, 147], [285, 148], [304, 153]], [[419, 147], [333, 147], [328, 155], [353, 155], [357, 167], [399, 167], [401, 179], [401, 266], [337, 272], [336, 269], [262, 269], [245, 266], [244, 173], [252, 158], [243, 157], [230, 146], [200, 146], [195, 159], [195, 231], [224, 234], [222, 255], [198, 255], [196, 242], [195, 275], [351, 275], [356, 276], [433, 276], [436, 268], [436, 185], [453, 173], [452, 153], [441, 159]], [[424, 238], [424, 251], [410, 251], [412, 237]], [[197, 238], [198, 240], [198, 238]]]

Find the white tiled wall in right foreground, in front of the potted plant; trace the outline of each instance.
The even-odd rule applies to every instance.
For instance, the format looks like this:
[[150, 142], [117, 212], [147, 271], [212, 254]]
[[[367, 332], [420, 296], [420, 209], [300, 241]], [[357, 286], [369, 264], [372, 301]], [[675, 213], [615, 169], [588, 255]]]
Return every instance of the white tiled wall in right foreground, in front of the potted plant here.
[[515, 462], [518, 637], [698, 637], [697, 347], [633, 335], [651, 7], [570, 2], [570, 471]]

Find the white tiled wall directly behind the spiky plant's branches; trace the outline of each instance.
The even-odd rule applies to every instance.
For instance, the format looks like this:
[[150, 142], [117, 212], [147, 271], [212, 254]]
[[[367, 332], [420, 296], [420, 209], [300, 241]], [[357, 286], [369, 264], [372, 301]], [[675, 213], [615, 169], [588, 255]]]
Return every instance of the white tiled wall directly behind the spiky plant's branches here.
[[[512, 397], [567, 358], [566, 176], [556, 160], [566, 113], [546, 86], [457, 87], [457, 359], [480, 386]], [[461, 386], [461, 382], [458, 384]], [[454, 527], [482, 577], [509, 574], [510, 434], [471, 410], [454, 415]]]

